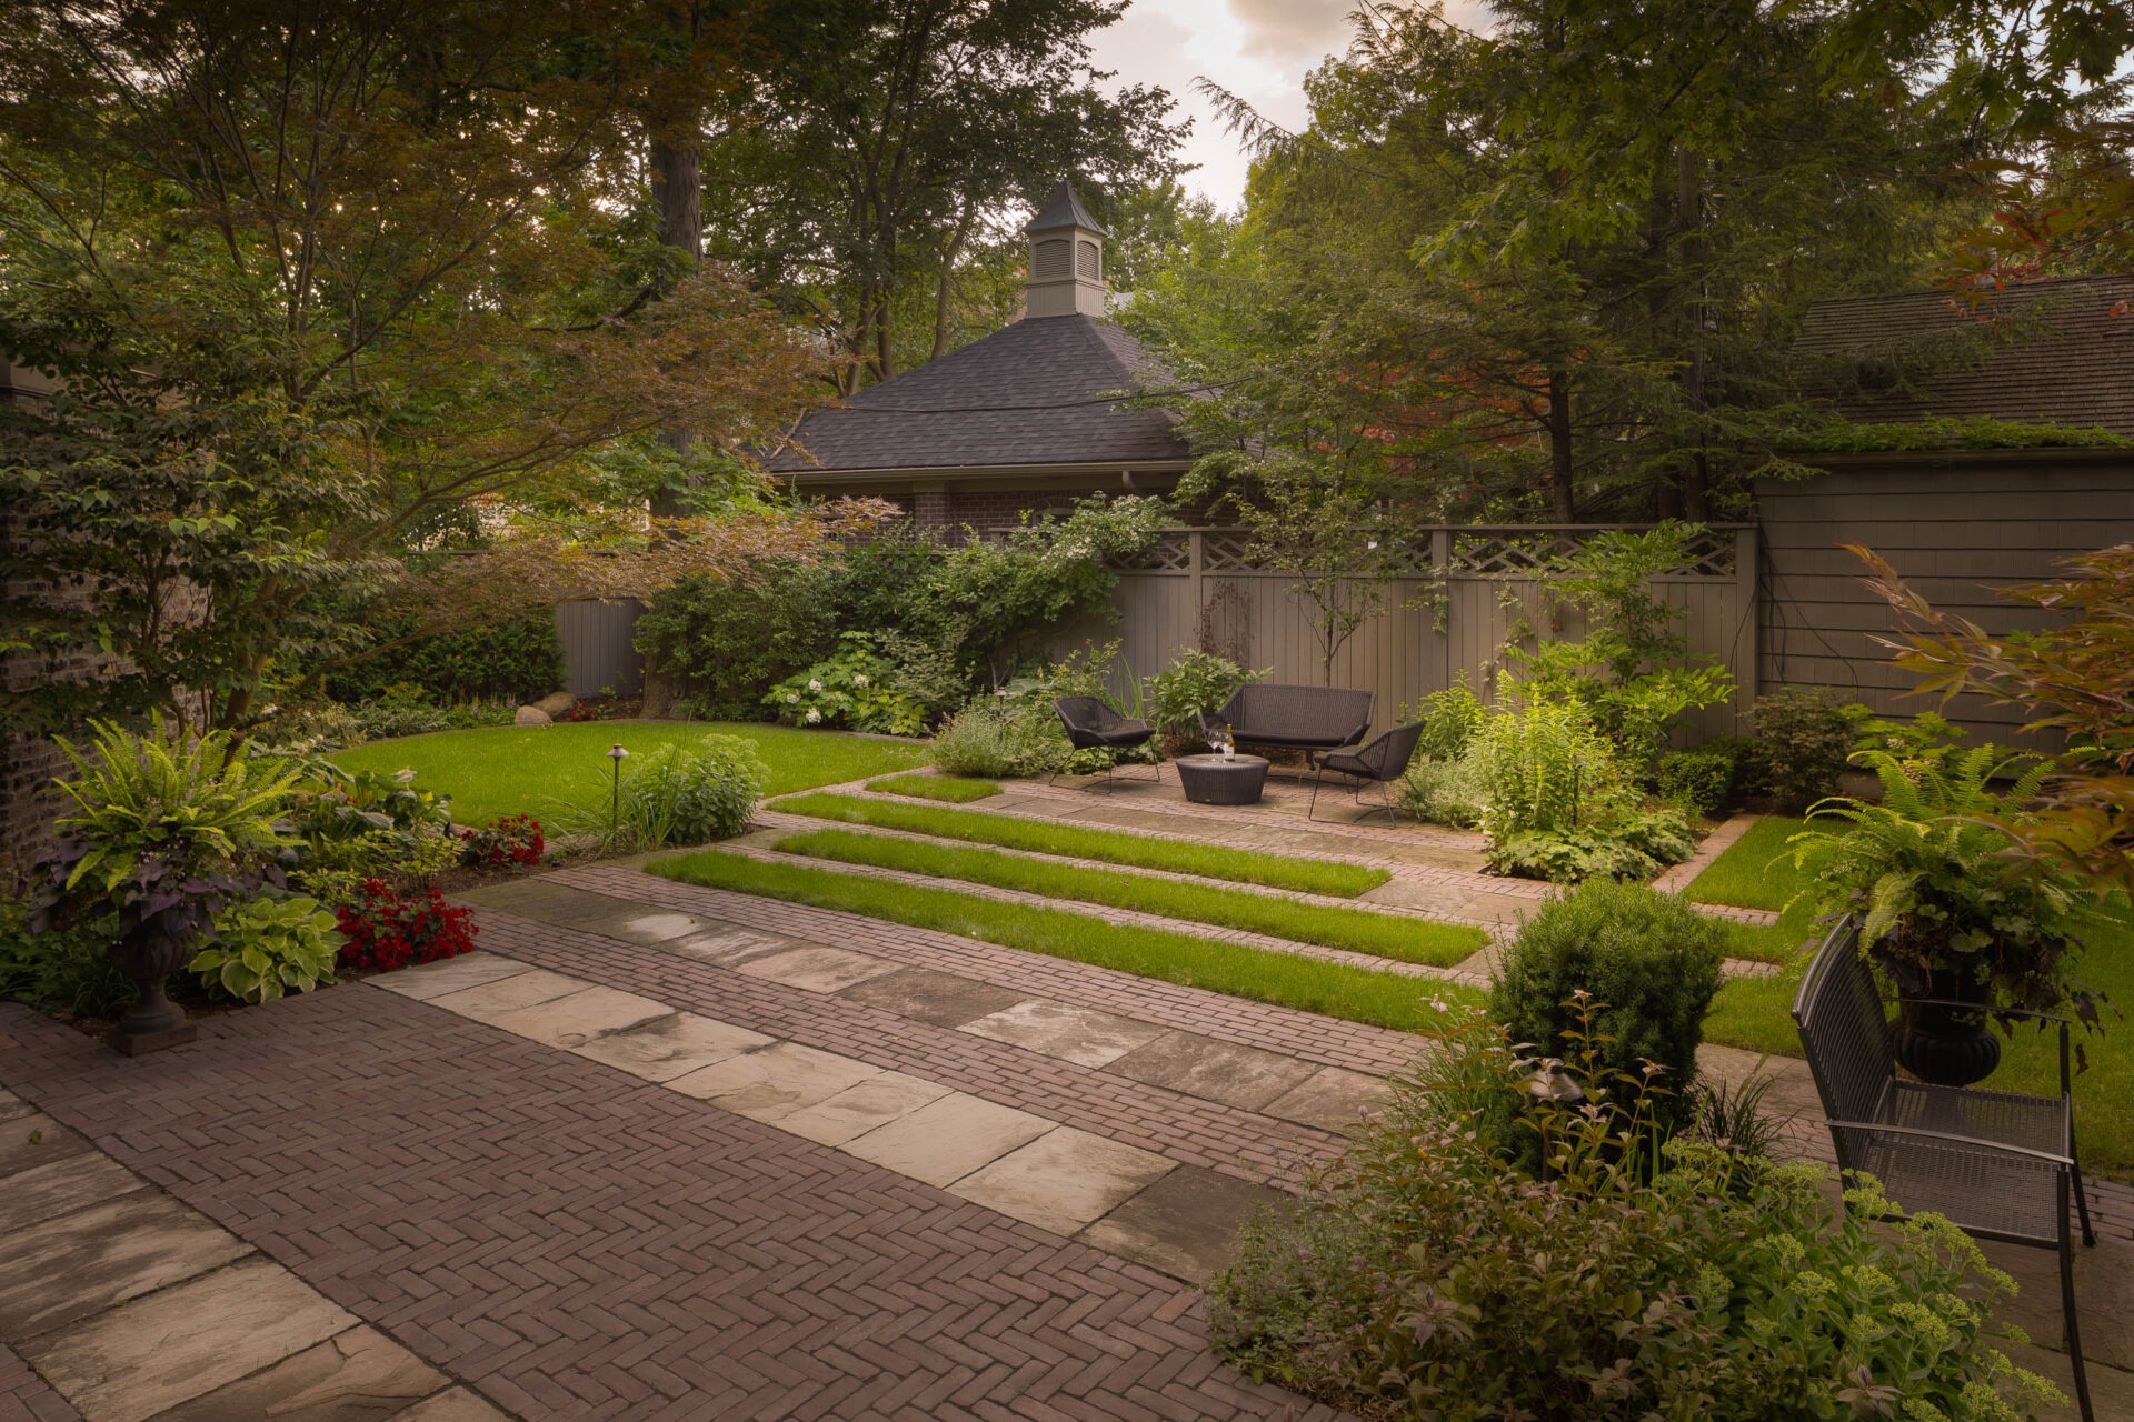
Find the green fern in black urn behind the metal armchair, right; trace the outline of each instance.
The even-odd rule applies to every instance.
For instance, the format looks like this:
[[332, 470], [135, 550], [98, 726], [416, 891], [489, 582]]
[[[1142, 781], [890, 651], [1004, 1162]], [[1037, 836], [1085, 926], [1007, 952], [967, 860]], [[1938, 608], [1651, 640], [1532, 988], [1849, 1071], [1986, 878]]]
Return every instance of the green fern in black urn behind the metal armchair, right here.
[[[1970, 1085], [2000, 1064], [1993, 1008], [2042, 1013], [2079, 991], [2079, 934], [2096, 921], [2076, 876], [2019, 853], [1991, 823], [2038, 795], [2049, 763], [1993, 755], [1861, 750], [1852, 759], [1880, 780], [1880, 804], [1822, 799], [1810, 819], [1842, 827], [1790, 840], [1812, 878], [1801, 893], [1859, 915], [1861, 951], [1897, 987], [1897, 1062], [1938, 1085]], [[1989, 789], [2019, 767], [2006, 793]]]

